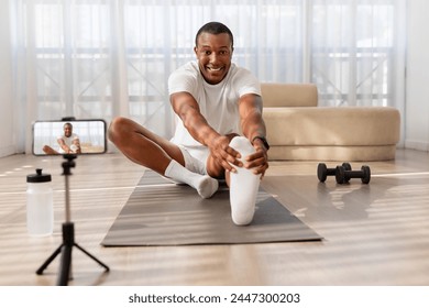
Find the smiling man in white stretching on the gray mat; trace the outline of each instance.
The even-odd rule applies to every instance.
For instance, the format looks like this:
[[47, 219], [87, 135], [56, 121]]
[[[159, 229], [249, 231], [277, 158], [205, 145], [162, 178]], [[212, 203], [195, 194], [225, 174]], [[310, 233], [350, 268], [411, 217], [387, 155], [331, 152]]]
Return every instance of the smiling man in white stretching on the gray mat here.
[[[109, 139], [131, 161], [193, 186], [202, 198], [210, 198], [218, 190], [217, 179], [226, 178], [231, 195], [237, 195], [232, 188], [240, 188], [241, 195], [252, 196], [239, 200], [239, 206], [231, 198], [233, 221], [248, 224], [256, 186], [268, 168], [260, 84], [249, 70], [231, 63], [233, 35], [222, 23], [205, 24], [194, 51], [197, 62], [178, 68], [168, 79], [170, 103], [179, 118], [173, 140], [125, 118], [113, 119]], [[243, 182], [249, 185], [240, 187]]]

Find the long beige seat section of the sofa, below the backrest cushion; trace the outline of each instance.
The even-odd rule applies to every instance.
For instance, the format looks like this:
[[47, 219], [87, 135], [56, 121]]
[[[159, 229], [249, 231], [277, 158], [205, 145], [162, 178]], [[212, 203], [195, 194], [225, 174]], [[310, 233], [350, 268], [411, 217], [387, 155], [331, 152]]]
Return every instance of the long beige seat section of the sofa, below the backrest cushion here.
[[264, 108], [271, 145], [392, 145], [399, 112], [391, 107]]

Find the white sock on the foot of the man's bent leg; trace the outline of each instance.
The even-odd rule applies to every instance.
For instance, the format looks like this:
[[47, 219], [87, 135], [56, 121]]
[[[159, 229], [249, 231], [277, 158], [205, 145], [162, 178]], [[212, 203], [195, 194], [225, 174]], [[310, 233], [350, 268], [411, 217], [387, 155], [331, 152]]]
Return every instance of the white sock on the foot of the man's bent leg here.
[[198, 195], [205, 199], [210, 198], [219, 188], [219, 183], [217, 179], [208, 175], [193, 173], [174, 160], [169, 162], [169, 165], [165, 169], [164, 175], [174, 180], [186, 183], [187, 185], [194, 187], [197, 189]]

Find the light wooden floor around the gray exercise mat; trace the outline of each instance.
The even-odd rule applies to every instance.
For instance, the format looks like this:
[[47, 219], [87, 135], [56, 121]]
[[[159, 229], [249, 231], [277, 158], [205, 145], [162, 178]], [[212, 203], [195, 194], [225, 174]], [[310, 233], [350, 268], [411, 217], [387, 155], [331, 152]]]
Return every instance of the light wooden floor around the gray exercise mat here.
[[[62, 157], [0, 158], [0, 285], [55, 285], [62, 243]], [[337, 163], [328, 163], [334, 166]], [[70, 285], [429, 285], [429, 154], [398, 150], [367, 163], [369, 185], [318, 182], [318, 162], [273, 162], [263, 187], [323, 237], [321, 242], [158, 248], [103, 248], [100, 242], [144, 169], [120, 154], [80, 156], [72, 169], [76, 242], [109, 273], [73, 252]], [[352, 163], [353, 169], [363, 163]], [[25, 177], [53, 175], [55, 230], [32, 238], [25, 224]]]

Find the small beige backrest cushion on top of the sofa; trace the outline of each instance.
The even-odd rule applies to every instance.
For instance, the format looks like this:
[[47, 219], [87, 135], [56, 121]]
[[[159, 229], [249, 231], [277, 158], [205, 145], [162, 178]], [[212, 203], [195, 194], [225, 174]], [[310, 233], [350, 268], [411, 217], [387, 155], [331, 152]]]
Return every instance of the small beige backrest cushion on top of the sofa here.
[[261, 84], [266, 107], [316, 107], [317, 87], [314, 84]]

